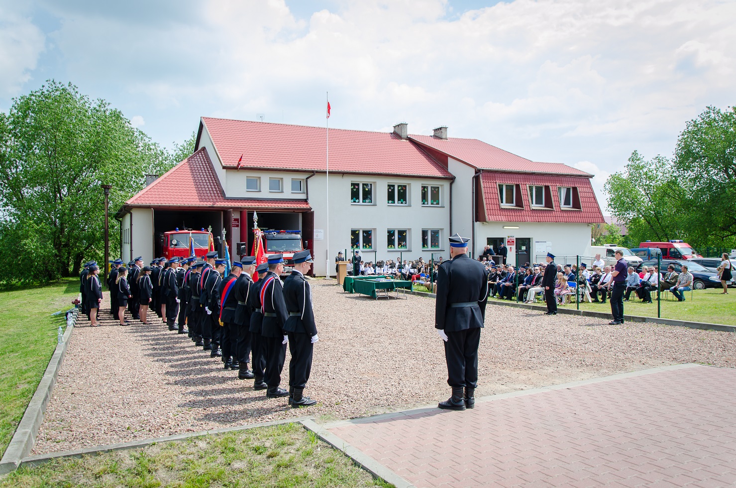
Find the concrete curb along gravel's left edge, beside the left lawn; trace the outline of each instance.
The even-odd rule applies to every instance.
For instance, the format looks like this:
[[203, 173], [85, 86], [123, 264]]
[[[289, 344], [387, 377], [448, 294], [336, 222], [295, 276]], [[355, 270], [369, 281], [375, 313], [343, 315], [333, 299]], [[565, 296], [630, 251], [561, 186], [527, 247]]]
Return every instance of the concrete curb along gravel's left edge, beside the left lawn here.
[[0, 460], [0, 475], [18, 469], [22, 459], [28, 456], [36, 442], [38, 428], [40, 428], [41, 422], [43, 422], [43, 413], [46, 411], [46, 405], [48, 405], [51, 399], [51, 393], [56, 384], [61, 362], [64, 358], [64, 353], [66, 353], [66, 346], [69, 343], [71, 333], [74, 332], [74, 327], [77, 325], [78, 315], [79, 308], [75, 308], [72, 312], [72, 325], [71, 327], [67, 326], [62, 343], [57, 344], [51, 361], [49, 361], [49, 365], [46, 367], [46, 372], [43, 373], [43, 377], [26, 407], [21, 422], [15, 428], [13, 439], [10, 439], [10, 444], [7, 446]]

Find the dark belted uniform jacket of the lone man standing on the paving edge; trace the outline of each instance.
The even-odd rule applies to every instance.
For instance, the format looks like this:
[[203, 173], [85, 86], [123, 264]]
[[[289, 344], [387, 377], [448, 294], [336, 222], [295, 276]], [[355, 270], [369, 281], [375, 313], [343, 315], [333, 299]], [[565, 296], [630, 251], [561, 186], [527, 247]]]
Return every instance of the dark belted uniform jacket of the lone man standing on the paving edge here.
[[436, 328], [446, 332], [482, 328], [487, 301], [488, 271], [483, 264], [467, 254], [459, 254], [439, 266], [434, 309]]

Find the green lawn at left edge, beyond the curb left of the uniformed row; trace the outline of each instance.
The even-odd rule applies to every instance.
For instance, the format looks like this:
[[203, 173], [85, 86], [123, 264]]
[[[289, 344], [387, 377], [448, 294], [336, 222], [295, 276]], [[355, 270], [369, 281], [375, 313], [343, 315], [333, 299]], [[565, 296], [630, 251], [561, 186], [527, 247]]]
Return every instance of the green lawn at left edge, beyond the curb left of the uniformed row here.
[[79, 280], [0, 292], [0, 455], [5, 452], [57, 344], [55, 311], [72, 308]]

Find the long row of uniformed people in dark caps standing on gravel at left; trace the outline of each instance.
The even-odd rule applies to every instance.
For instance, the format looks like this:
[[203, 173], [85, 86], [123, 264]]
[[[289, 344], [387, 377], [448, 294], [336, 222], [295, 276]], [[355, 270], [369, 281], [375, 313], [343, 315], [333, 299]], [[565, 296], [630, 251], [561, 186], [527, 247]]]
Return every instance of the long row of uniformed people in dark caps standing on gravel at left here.
[[[254, 380], [253, 388], [265, 389], [266, 397], [288, 396], [294, 407], [314, 405], [316, 400], [303, 394], [319, 340], [304, 277], [313, 262], [310, 252], [294, 254], [294, 270], [283, 283], [281, 254], [269, 255], [260, 266], [255, 256], [246, 256], [229, 270], [217, 254], [208, 252], [202, 260], [156, 258], [149, 266], [142, 266], [142, 257], [127, 266], [120, 259], [110, 261], [110, 314], [120, 325], [130, 324], [125, 311], [147, 324], [151, 308], [169, 330], [188, 334], [195, 346], [210, 351], [210, 357], [221, 357], [225, 369], [238, 370], [239, 379]], [[99, 267], [90, 261], [79, 275], [82, 311], [93, 326], [102, 303], [98, 273]], [[258, 281], [253, 280], [256, 274]], [[288, 391], [280, 387], [286, 344], [291, 353]]]

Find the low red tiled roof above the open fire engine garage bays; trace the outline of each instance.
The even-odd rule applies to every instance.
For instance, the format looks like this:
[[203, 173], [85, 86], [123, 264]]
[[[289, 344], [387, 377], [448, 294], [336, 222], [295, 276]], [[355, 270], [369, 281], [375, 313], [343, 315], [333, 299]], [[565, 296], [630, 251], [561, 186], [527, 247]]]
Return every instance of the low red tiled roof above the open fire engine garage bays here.
[[249, 208], [309, 210], [306, 200], [225, 198], [207, 149], [202, 148], [166, 171], [125, 202], [126, 207]]

